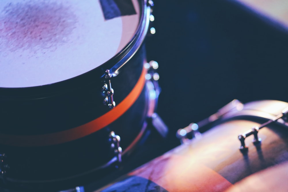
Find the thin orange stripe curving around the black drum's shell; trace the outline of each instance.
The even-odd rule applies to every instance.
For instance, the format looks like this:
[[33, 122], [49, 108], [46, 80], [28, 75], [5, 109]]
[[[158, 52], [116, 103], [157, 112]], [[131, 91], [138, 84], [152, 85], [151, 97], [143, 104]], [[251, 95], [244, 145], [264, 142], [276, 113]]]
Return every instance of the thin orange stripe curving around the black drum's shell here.
[[104, 115], [90, 121], [84, 125], [71, 128], [69, 130], [54, 132], [42, 135], [10, 135], [0, 134], [0, 143], [10, 146], [19, 147], [36, 147], [56, 145], [69, 141], [73, 141], [87, 135], [90, 135], [118, 119], [122, 116], [137, 100], [145, 85], [146, 69], [143, 68], [141, 76], [137, 81], [132, 91], [128, 94], [122, 102], [120, 102], [114, 109], [105, 113]]

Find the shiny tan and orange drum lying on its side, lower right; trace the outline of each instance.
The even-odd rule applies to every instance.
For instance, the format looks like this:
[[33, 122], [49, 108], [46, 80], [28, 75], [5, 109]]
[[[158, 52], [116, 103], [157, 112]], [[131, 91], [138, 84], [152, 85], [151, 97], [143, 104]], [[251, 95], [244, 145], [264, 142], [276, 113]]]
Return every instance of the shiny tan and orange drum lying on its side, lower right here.
[[[275, 169], [268, 173], [272, 173], [278, 183], [279, 180], [285, 183], [287, 174], [282, 177], [285, 175], [282, 172], [278, 177], [278, 172], [287, 170], [288, 166], [287, 121], [281, 118], [260, 129], [258, 138], [262, 138], [261, 144], [254, 145], [254, 137], [247, 136], [246, 152], [239, 150], [241, 145], [238, 135], [259, 126], [259, 123], [275, 120], [287, 107], [286, 102], [271, 100], [245, 104], [243, 110], [227, 114], [229, 118], [204, 132], [201, 138], [193, 138], [189, 143], [168, 151], [98, 191], [225, 191], [242, 179], [246, 181], [245, 186], [251, 186], [245, 178], [267, 173], [260, 171], [271, 170], [273, 167]], [[250, 181], [253, 178], [255, 176]], [[257, 182], [262, 183], [262, 188], [255, 189], [263, 189], [263, 186], [265, 188], [268, 185], [267, 190], [273, 188], [270, 181]], [[257, 186], [257, 182], [253, 185]], [[240, 185], [241, 182], [230, 190], [243, 189]], [[248, 188], [244, 191], [252, 190]]]

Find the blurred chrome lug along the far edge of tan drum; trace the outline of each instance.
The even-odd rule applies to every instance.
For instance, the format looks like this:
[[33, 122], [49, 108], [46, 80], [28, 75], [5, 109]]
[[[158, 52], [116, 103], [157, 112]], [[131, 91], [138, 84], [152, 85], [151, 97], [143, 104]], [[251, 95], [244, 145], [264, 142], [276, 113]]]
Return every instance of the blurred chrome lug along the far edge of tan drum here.
[[227, 113], [233, 110], [241, 111], [242, 109], [243, 109], [243, 103], [237, 99], [234, 99], [228, 104], [224, 105], [216, 113], [214, 113], [213, 115], [210, 115], [208, 118], [203, 119], [202, 121], [199, 121], [198, 123], [190, 123], [189, 126], [177, 130], [176, 137], [179, 138], [181, 144], [186, 143], [187, 141], [190, 140], [188, 136], [190, 137], [192, 136], [192, 138], [193, 137], [199, 138], [201, 136], [199, 132], [199, 128], [204, 127], [208, 125], [209, 123], [213, 123], [214, 121], [217, 121], [218, 119], [221, 119], [223, 116], [225, 116]]

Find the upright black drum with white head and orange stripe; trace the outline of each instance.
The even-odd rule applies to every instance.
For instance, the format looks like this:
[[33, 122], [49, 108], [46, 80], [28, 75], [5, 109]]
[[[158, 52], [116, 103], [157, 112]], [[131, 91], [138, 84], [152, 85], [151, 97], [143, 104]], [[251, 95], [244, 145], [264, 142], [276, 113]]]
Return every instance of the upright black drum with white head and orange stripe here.
[[0, 2], [5, 185], [83, 176], [121, 161], [143, 135], [155, 103], [143, 67], [150, 5], [109, 2]]

